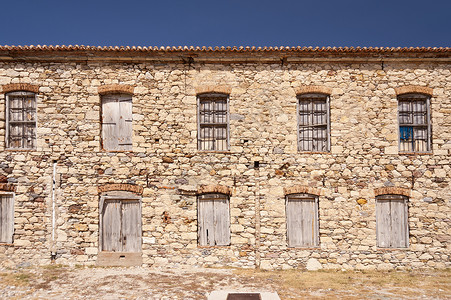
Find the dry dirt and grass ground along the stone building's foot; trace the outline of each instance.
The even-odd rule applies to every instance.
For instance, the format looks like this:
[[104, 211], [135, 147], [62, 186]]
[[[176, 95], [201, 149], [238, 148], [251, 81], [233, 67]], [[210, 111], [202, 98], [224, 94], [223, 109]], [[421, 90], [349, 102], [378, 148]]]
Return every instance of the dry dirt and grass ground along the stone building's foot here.
[[2, 299], [206, 299], [214, 290], [281, 299], [451, 299], [451, 270], [259, 271], [49, 265], [0, 270]]

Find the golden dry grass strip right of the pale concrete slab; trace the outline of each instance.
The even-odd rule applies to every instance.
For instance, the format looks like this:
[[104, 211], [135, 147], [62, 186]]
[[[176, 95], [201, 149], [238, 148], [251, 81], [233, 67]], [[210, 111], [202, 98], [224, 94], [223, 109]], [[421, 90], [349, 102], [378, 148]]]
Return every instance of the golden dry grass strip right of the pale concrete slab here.
[[235, 270], [239, 276], [272, 281], [282, 299], [323, 297], [366, 298], [377, 294], [417, 298], [451, 295], [451, 270], [440, 271], [316, 271]]

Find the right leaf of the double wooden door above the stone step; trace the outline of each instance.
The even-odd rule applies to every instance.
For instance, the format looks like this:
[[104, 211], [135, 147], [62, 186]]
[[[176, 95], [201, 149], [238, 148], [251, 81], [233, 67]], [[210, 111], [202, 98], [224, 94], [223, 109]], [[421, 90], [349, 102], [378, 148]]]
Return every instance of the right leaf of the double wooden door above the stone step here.
[[122, 251], [141, 252], [141, 213], [139, 201], [122, 201]]

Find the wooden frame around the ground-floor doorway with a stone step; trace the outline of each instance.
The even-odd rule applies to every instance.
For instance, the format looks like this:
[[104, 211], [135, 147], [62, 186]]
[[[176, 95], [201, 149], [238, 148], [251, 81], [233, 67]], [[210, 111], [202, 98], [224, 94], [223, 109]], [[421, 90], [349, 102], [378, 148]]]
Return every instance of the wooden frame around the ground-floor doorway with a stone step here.
[[[139, 221], [140, 221], [140, 236], [141, 236], [141, 242], [140, 242], [140, 250], [137, 252], [124, 252], [124, 253], [142, 253], [142, 244], [143, 244], [143, 230], [142, 230], [142, 197], [138, 196], [132, 192], [127, 191], [110, 191], [106, 192], [105, 194], [100, 196], [100, 202], [99, 202], [99, 252], [107, 252], [106, 250], [103, 250], [103, 211], [105, 209], [105, 202], [110, 200], [118, 200], [121, 202], [124, 201], [138, 201], [139, 202]], [[115, 251], [108, 251], [108, 252], [115, 252]], [[120, 253], [120, 252], [117, 252]]]

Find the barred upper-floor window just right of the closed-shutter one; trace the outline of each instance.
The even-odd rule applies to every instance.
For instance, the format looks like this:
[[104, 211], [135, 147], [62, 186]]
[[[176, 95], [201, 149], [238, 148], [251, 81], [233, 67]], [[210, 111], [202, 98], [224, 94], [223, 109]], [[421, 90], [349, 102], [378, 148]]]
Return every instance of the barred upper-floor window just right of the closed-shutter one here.
[[198, 149], [229, 150], [229, 97], [202, 94], [198, 101]]

